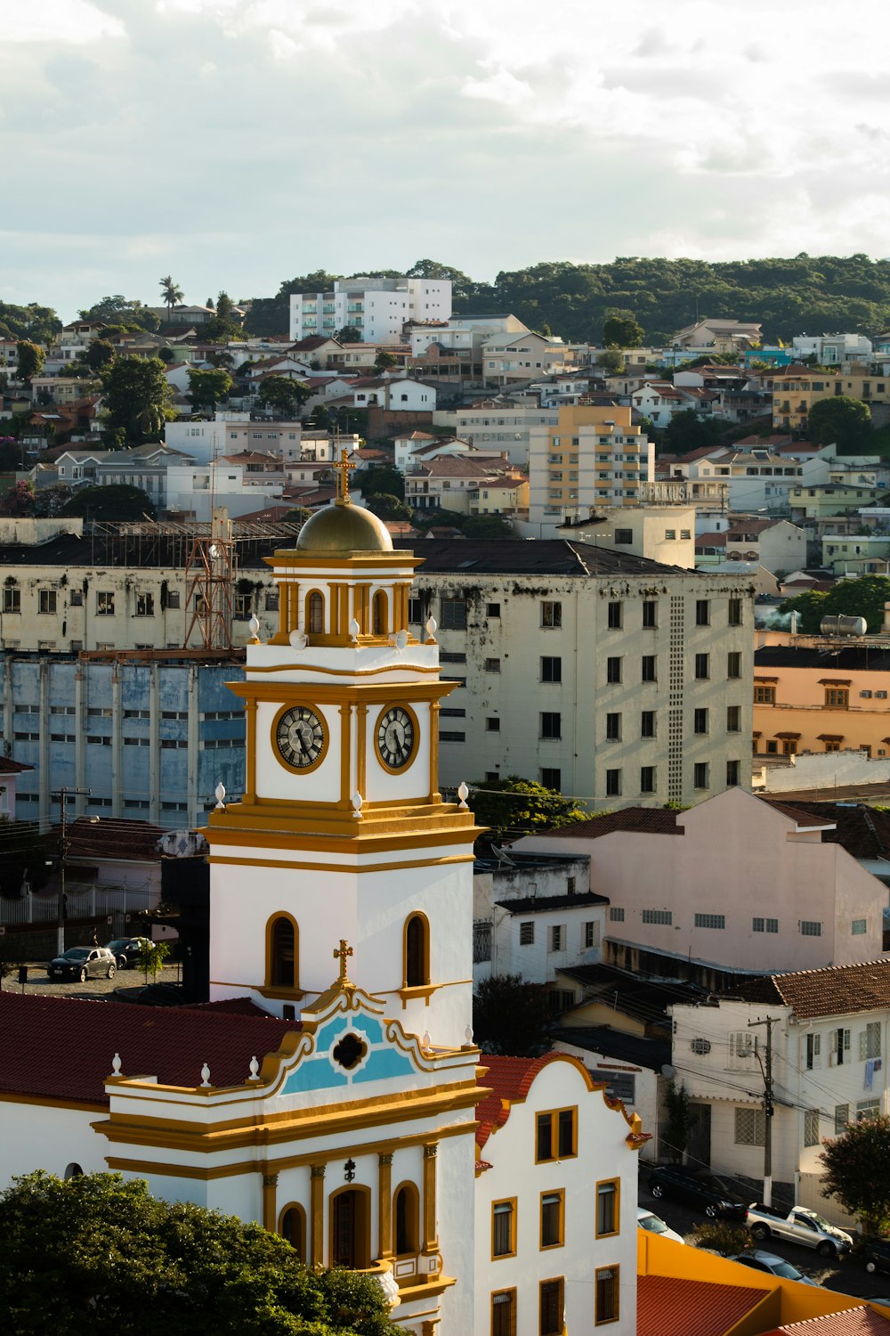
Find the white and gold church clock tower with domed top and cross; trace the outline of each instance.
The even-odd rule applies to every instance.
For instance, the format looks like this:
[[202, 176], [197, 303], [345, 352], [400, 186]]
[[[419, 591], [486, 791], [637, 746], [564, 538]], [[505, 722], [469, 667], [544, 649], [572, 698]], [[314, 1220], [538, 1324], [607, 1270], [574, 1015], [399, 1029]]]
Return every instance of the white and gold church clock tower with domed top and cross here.
[[419, 558], [395, 552], [348, 496], [267, 561], [279, 629], [247, 648], [232, 685], [247, 715], [240, 803], [211, 814], [211, 998], [300, 1015], [350, 973], [426, 1042], [467, 1042], [472, 843], [464, 804], [438, 792], [435, 624], [408, 632]]

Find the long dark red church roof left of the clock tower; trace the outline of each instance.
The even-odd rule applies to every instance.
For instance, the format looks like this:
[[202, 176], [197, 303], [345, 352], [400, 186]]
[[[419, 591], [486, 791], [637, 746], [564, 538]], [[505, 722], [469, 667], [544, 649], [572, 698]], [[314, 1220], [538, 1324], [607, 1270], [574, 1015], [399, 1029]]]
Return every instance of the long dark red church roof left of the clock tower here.
[[256, 1055], [274, 1053], [299, 1022], [220, 1007], [149, 1007], [128, 1002], [0, 993], [0, 1092], [107, 1106], [115, 1053], [123, 1075], [199, 1086], [242, 1085]]

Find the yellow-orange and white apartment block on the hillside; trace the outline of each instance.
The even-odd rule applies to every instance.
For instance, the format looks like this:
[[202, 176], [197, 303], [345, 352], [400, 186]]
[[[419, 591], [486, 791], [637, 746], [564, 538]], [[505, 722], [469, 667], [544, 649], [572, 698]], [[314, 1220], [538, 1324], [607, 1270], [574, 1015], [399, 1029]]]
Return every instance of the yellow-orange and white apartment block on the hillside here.
[[654, 481], [655, 446], [619, 405], [560, 407], [530, 433], [528, 518], [558, 525], [598, 505], [632, 505]]

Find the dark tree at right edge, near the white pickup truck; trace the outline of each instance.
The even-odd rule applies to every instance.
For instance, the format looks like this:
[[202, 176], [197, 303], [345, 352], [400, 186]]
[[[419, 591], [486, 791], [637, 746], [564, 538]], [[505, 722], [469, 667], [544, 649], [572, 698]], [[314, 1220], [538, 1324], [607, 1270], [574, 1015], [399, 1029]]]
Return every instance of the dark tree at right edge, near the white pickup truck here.
[[822, 1142], [822, 1196], [837, 1197], [866, 1233], [890, 1229], [890, 1117], [874, 1114], [851, 1122]]

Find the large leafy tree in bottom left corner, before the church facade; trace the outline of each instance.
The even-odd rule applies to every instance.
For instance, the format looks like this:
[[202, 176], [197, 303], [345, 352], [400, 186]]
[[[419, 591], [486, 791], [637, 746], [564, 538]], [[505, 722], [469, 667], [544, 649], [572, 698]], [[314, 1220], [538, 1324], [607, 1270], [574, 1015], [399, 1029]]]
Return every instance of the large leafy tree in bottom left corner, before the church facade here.
[[0, 1196], [0, 1311], [17, 1336], [402, 1331], [372, 1277], [315, 1272], [258, 1224], [151, 1197], [140, 1178], [13, 1178]]

